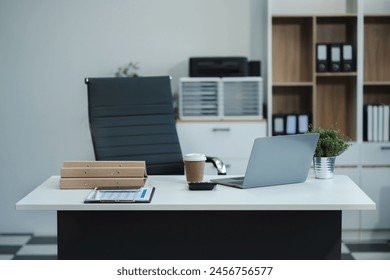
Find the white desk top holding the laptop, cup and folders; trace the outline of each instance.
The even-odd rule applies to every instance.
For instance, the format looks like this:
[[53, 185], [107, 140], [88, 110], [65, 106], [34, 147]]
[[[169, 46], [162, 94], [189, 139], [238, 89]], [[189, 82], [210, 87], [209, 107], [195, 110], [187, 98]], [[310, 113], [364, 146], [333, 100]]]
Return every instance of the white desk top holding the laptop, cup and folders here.
[[[222, 176], [218, 176], [221, 178]], [[205, 179], [215, 178], [207, 176]], [[236, 189], [217, 185], [190, 191], [184, 176], [149, 176], [156, 188], [151, 203], [85, 204], [92, 191], [61, 190], [52, 176], [16, 203], [17, 210], [374, 210], [375, 203], [348, 177], [308, 179], [299, 184]]]

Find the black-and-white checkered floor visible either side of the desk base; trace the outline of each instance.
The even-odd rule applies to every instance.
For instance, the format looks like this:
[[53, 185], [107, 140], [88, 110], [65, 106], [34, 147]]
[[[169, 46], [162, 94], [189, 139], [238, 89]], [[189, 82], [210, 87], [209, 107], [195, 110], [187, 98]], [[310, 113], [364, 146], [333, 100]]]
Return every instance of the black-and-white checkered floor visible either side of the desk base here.
[[[343, 260], [390, 260], [389, 241], [344, 241]], [[33, 234], [0, 234], [0, 260], [55, 260], [57, 238]]]

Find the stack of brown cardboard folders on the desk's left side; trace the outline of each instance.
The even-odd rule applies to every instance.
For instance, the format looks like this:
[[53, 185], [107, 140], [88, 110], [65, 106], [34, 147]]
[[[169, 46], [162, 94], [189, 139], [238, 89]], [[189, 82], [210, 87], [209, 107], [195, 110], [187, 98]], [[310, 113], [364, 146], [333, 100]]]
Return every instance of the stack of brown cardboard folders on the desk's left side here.
[[65, 161], [60, 188], [141, 188], [146, 179], [145, 161]]

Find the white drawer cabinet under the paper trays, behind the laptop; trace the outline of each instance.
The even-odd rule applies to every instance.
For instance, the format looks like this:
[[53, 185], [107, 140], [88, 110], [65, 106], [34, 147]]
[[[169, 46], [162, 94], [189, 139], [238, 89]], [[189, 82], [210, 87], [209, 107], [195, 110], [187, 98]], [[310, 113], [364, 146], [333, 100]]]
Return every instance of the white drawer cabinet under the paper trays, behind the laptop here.
[[265, 121], [178, 121], [176, 127], [183, 154], [219, 157], [235, 175], [244, 174], [254, 139], [267, 133]]

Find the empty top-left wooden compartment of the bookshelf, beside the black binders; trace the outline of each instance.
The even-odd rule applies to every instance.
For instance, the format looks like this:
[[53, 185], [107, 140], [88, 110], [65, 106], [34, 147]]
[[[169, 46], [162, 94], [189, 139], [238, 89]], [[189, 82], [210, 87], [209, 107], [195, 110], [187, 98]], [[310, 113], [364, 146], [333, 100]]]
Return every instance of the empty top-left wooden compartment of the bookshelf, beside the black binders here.
[[272, 77], [274, 83], [313, 80], [313, 18], [272, 19]]

